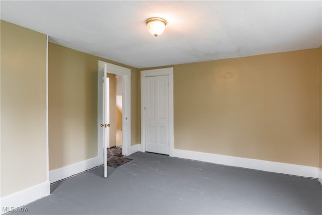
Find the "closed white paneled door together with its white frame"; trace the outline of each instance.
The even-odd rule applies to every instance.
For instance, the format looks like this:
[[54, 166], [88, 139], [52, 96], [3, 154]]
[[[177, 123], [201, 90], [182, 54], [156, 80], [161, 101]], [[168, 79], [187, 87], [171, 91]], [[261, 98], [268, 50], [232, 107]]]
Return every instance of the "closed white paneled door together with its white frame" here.
[[[162, 87], [164, 83], [167, 83], [167, 84], [164, 87]], [[149, 88], [152, 90], [150, 91]], [[148, 94], [148, 92], [150, 93]], [[162, 96], [161, 97], [159, 96], [160, 92], [164, 93], [165, 98], [162, 98]], [[160, 100], [164, 100], [165, 102], [160, 102]], [[168, 102], [168, 108], [166, 108], [167, 106], [166, 101]], [[161, 105], [159, 107], [158, 105], [159, 103], [164, 103], [164, 105], [166, 106], [162, 107]], [[158, 107], [153, 107], [153, 105], [157, 105]], [[162, 108], [165, 108], [164, 111], [162, 110]], [[151, 112], [149, 112], [150, 109], [152, 109]], [[167, 154], [171, 157], [173, 156], [173, 151], [174, 151], [174, 112], [173, 111], [174, 111], [173, 110], [173, 67], [142, 70], [141, 71], [141, 151], [142, 152], [145, 152], [145, 151], [155, 152], [160, 154]], [[168, 128], [166, 125], [168, 125]]]

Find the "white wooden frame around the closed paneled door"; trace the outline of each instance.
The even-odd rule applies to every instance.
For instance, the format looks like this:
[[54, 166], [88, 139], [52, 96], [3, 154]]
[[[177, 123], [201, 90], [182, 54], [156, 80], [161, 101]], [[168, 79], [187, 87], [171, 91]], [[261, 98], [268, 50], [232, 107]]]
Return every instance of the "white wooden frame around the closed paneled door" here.
[[173, 67], [141, 70], [141, 152], [145, 152], [145, 77], [169, 76], [169, 156], [174, 156], [174, 100], [173, 100]]

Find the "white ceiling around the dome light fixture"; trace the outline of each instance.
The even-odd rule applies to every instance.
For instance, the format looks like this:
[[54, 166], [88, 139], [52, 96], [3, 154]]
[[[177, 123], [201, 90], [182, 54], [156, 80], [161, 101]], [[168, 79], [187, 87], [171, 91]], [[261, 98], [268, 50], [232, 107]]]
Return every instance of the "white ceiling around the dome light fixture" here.
[[[1, 1], [1, 19], [136, 68], [317, 48], [321, 1]], [[154, 37], [145, 20], [162, 17]]]

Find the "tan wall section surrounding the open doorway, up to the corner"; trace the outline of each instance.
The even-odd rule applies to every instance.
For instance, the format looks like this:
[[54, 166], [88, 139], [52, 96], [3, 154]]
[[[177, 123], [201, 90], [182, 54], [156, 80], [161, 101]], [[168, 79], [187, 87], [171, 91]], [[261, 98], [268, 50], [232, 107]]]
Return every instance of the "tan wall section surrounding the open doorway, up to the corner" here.
[[[98, 60], [49, 43], [49, 170], [97, 156]], [[125, 66], [129, 67], [129, 66]], [[131, 68], [131, 144], [138, 140], [138, 69]]]

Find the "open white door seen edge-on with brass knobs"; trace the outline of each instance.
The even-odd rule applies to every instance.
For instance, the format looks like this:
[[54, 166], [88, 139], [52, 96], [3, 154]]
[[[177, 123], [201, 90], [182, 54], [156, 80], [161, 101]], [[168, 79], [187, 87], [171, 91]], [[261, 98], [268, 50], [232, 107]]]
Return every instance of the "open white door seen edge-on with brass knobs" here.
[[104, 65], [103, 75], [103, 167], [104, 178], [107, 177], [107, 146], [110, 142], [110, 79], [107, 78], [107, 68]]

